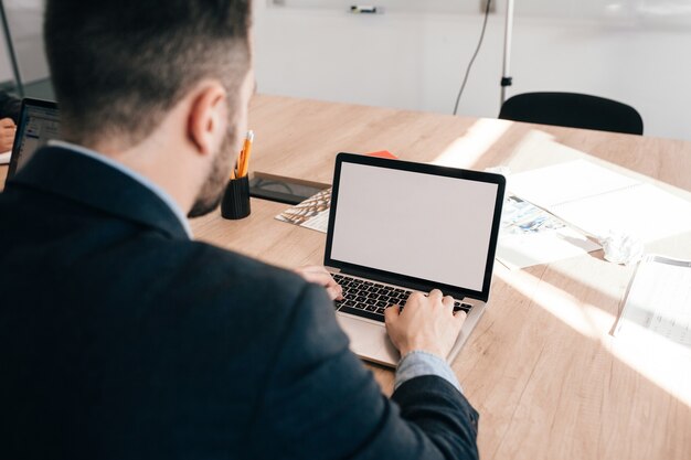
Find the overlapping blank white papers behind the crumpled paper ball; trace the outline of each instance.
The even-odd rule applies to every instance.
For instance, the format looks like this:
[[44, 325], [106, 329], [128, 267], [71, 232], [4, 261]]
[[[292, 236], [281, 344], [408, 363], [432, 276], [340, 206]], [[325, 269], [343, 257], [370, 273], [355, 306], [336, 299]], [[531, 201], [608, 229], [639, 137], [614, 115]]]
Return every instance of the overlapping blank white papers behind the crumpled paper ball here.
[[512, 175], [511, 192], [595, 237], [651, 242], [691, 231], [691, 202], [586, 160]]

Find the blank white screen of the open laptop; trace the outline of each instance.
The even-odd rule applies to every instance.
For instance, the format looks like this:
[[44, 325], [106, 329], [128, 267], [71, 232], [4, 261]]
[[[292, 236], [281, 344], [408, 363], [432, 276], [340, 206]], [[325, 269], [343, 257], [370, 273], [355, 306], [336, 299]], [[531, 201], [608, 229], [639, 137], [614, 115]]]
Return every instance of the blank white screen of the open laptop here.
[[498, 188], [343, 162], [331, 258], [481, 291]]

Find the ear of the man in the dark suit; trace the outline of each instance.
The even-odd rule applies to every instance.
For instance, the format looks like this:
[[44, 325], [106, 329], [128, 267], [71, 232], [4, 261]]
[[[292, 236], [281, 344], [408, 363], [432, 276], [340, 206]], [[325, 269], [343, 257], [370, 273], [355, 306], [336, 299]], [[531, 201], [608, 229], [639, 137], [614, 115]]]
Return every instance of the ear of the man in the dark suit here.
[[217, 82], [202, 84], [191, 98], [188, 137], [200, 154], [215, 152], [227, 130], [227, 94]]

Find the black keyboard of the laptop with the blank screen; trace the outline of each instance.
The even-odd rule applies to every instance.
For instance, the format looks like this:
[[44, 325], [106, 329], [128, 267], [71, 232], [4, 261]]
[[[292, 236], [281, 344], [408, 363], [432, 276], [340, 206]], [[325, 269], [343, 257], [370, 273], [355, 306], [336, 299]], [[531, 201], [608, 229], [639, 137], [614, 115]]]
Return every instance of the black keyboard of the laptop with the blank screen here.
[[[374, 321], [384, 322], [386, 307], [398, 304], [403, 308], [408, 296], [413, 293], [410, 290], [365, 281], [347, 275], [336, 274], [332, 277], [343, 288], [343, 300], [336, 301], [336, 309], [342, 313], [369, 318]], [[454, 312], [458, 310], [468, 312], [471, 308], [472, 306], [468, 303], [459, 301], [454, 303]]]

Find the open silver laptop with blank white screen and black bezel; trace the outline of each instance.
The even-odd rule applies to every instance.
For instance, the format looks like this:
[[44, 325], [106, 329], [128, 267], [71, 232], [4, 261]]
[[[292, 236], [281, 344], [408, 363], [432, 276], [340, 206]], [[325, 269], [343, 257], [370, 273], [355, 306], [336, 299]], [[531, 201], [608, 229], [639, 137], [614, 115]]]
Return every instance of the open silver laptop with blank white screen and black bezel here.
[[468, 314], [456, 357], [487, 308], [504, 190], [499, 174], [337, 156], [325, 266], [343, 288], [337, 318], [355, 354], [396, 366], [384, 309], [439, 289]]

